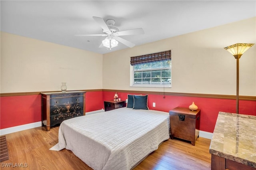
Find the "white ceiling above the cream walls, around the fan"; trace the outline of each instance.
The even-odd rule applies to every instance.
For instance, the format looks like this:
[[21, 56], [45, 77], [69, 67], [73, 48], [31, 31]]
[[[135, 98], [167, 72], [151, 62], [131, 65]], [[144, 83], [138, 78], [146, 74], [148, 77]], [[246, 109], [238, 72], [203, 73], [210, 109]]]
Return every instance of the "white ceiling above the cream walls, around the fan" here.
[[105, 37], [92, 16], [114, 19], [120, 30], [143, 28], [145, 34], [122, 36], [141, 45], [256, 16], [256, 0], [1, 0], [1, 31], [96, 53], [129, 48], [122, 43], [110, 51], [99, 48]]

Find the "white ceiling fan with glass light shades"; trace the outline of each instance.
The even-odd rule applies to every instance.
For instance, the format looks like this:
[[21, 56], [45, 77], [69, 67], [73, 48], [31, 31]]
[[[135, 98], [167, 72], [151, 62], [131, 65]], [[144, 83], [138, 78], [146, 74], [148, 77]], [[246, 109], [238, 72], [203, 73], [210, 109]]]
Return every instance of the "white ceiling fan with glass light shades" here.
[[93, 16], [92, 18], [100, 25], [103, 34], [76, 34], [75, 36], [106, 36], [106, 38], [102, 41], [99, 47], [108, 47], [111, 50], [111, 48], [116, 47], [118, 45], [118, 42], [120, 42], [132, 48], [135, 46], [134, 43], [120, 38], [119, 36], [144, 34], [142, 28], [119, 32], [118, 28], [114, 26], [115, 20], [109, 19], [105, 23], [104, 20], [100, 17]]

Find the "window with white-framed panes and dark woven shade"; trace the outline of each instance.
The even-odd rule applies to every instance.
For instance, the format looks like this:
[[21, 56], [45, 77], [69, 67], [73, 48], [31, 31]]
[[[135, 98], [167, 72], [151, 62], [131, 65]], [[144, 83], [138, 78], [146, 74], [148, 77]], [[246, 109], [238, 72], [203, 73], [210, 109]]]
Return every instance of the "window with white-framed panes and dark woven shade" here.
[[[136, 61], [136, 64], [132, 64]], [[144, 61], [142, 61], [144, 59]], [[153, 61], [149, 61], [153, 59]], [[138, 62], [139, 61], [139, 62]], [[131, 57], [131, 85], [142, 87], [171, 87], [172, 61], [170, 51]]]

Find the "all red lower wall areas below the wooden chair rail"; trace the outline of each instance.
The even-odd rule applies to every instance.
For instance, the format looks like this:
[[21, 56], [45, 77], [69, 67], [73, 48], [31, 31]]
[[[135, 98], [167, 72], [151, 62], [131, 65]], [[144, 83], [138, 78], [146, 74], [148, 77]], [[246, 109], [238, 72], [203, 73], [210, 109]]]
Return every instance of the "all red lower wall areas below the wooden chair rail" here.
[[[121, 100], [128, 93], [118, 92]], [[86, 112], [104, 109], [104, 101], [114, 99], [115, 92], [86, 92]], [[135, 94], [135, 93], [132, 93]], [[139, 95], [138, 93], [136, 95]], [[142, 94], [144, 95], [144, 94]], [[192, 102], [201, 109], [200, 130], [213, 132], [219, 111], [236, 113], [236, 100], [204, 97], [184, 97], [148, 95], [148, 107], [152, 110], [168, 112], [175, 107], [188, 107]], [[152, 107], [152, 103], [156, 107]], [[239, 102], [239, 112], [256, 116], [256, 101]], [[0, 97], [0, 129], [41, 121], [41, 95]]]

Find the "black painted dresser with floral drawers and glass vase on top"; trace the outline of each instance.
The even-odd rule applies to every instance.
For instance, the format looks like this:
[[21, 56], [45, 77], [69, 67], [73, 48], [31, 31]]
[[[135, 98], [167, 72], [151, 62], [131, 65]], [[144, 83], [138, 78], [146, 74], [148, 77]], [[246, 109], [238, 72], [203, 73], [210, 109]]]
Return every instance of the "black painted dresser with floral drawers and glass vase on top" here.
[[42, 124], [50, 127], [66, 119], [85, 115], [85, 91], [42, 94]]

